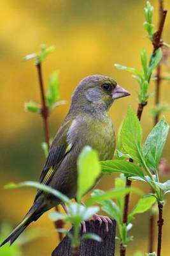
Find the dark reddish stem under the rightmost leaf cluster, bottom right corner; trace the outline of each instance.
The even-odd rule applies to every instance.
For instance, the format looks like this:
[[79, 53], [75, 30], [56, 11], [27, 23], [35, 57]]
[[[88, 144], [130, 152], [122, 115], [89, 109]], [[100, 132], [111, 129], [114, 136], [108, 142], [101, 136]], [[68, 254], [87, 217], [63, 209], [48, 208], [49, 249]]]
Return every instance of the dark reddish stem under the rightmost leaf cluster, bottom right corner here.
[[157, 221], [157, 225], [158, 225], [157, 256], [160, 256], [161, 243], [162, 243], [162, 226], [164, 225], [164, 220], [162, 218], [163, 205], [158, 203], [158, 209], [159, 209], [159, 220]]

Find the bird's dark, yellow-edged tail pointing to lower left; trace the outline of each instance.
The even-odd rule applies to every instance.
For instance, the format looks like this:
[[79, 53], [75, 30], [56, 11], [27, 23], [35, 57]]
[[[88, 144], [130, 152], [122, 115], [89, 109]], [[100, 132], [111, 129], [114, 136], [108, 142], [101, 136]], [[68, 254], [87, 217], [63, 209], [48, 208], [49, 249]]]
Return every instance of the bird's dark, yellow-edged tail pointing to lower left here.
[[32, 205], [29, 212], [25, 215], [24, 219], [18, 224], [18, 226], [11, 232], [11, 234], [0, 244], [0, 247], [10, 241], [10, 245], [17, 239], [18, 236], [24, 231], [24, 229], [32, 222], [36, 221], [43, 212], [36, 214], [37, 207]]

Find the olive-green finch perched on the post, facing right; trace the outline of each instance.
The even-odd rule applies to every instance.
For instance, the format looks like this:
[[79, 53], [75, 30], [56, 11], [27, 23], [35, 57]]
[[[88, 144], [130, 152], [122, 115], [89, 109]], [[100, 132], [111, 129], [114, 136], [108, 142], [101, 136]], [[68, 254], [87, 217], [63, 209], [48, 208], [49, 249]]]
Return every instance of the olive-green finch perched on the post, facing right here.
[[[109, 109], [116, 99], [130, 95], [111, 77], [92, 75], [76, 86], [71, 106], [50, 146], [39, 182], [76, 198], [78, 156], [86, 145], [101, 161], [113, 159], [115, 131]], [[99, 177], [100, 179], [101, 177]], [[95, 184], [94, 184], [95, 185]], [[25, 228], [46, 211], [62, 204], [50, 193], [38, 190], [31, 209], [0, 246], [12, 244]]]

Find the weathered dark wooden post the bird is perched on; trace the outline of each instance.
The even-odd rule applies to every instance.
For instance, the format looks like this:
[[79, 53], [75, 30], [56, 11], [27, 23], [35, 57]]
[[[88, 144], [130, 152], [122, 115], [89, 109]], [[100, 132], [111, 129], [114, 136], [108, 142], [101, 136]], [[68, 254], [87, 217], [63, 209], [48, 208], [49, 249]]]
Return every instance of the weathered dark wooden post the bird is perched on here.
[[[112, 226], [109, 225], [109, 232], [106, 233], [104, 223], [100, 226], [98, 221], [86, 221], [87, 233], [97, 234], [101, 237], [102, 241], [100, 243], [92, 239], [82, 241], [79, 256], [114, 256], [116, 221], [112, 220], [112, 223]], [[64, 237], [55, 250], [53, 250], [52, 256], [71, 256], [71, 241], [68, 236]]]

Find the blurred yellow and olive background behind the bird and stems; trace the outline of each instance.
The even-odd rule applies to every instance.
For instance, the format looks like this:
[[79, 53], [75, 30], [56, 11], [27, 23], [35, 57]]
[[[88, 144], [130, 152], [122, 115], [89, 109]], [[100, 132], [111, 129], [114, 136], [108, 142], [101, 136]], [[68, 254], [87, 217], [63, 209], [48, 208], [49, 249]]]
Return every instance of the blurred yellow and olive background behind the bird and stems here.
[[[158, 1], [151, 1], [155, 8], [154, 22], [157, 24]], [[164, 1], [170, 10], [170, 2]], [[40, 116], [25, 113], [24, 102], [39, 102], [39, 87], [33, 61], [24, 62], [22, 58], [31, 52], [38, 52], [42, 43], [55, 45], [55, 52], [43, 63], [45, 84], [55, 70], [60, 70], [60, 99], [66, 100], [50, 116], [50, 133], [53, 137], [66, 115], [71, 94], [78, 82], [90, 74], [103, 74], [113, 77], [131, 92], [131, 97], [117, 100], [111, 108], [115, 129], [122, 122], [131, 105], [136, 109], [139, 87], [126, 72], [113, 67], [121, 63], [140, 68], [139, 52], [145, 47], [152, 52], [152, 45], [143, 29], [143, 7], [145, 0], [7, 0], [1, 1], [0, 27], [0, 104], [1, 104], [1, 223], [14, 227], [24, 216], [34, 198], [34, 189], [6, 191], [4, 184], [22, 180], [38, 180], [45, 163], [41, 141], [44, 140]], [[170, 42], [170, 15], [167, 14], [164, 40]], [[169, 67], [165, 67], [170, 72]], [[154, 83], [150, 92], [154, 90]], [[162, 102], [170, 99], [170, 83], [164, 81], [161, 89]], [[142, 125], [144, 138], [152, 129], [150, 109], [153, 97], [144, 110]], [[170, 124], [170, 116], [165, 114]], [[170, 142], [167, 140], [164, 157], [169, 156]], [[167, 177], [166, 177], [167, 178]], [[162, 177], [162, 180], [165, 179]], [[113, 179], [104, 177], [100, 188], [113, 187]], [[135, 186], [141, 188], [136, 183]], [[148, 187], [142, 187], [148, 190]], [[132, 197], [133, 205], [136, 197]], [[131, 207], [132, 207], [131, 205]], [[164, 211], [162, 256], [169, 255], [169, 198]], [[57, 235], [48, 213], [34, 225], [39, 228], [39, 238], [22, 246], [22, 253], [30, 255], [50, 255], [57, 244]], [[34, 227], [30, 227], [34, 228]], [[132, 233], [134, 242], [129, 244], [127, 255], [136, 250], [146, 251], [148, 214], [138, 215]], [[1, 250], [0, 250], [0, 255]], [[15, 256], [14, 254], [12, 254]]]

